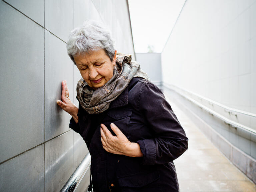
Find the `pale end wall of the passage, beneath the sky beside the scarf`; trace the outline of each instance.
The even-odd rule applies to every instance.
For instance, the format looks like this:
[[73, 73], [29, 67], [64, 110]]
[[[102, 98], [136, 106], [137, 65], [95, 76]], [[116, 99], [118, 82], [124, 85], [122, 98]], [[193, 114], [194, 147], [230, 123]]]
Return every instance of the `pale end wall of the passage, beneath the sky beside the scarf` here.
[[150, 80], [160, 86], [162, 82], [161, 53], [136, 53], [136, 61]]

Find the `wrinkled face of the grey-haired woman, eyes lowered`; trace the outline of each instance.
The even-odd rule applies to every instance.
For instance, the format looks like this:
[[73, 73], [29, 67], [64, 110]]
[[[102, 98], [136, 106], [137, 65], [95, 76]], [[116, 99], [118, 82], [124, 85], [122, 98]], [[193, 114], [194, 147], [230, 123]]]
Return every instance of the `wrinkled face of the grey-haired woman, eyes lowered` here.
[[113, 77], [116, 51], [112, 61], [104, 49], [77, 55], [74, 60], [83, 79], [91, 88], [96, 90]]

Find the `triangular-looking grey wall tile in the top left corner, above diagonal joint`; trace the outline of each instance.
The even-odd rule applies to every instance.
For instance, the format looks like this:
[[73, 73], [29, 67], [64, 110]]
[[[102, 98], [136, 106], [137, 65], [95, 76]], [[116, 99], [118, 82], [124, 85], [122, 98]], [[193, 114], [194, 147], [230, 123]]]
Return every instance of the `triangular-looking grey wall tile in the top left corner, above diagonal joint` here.
[[6, 0], [6, 2], [44, 26], [44, 0]]

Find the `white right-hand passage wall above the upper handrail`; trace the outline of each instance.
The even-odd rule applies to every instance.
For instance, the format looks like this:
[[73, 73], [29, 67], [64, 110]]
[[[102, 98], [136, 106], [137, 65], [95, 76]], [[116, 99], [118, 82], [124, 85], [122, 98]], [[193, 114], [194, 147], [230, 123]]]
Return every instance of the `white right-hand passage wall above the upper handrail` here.
[[164, 83], [256, 113], [256, 1], [187, 0], [162, 68]]

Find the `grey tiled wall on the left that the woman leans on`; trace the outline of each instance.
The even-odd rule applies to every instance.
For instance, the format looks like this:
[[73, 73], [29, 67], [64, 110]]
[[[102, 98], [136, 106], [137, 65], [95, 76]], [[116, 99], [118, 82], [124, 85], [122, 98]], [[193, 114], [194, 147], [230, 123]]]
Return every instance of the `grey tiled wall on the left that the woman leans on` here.
[[66, 41], [86, 19], [103, 21], [134, 58], [125, 0], [0, 0], [0, 191], [59, 191], [88, 153], [56, 105], [64, 79], [78, 105]]

